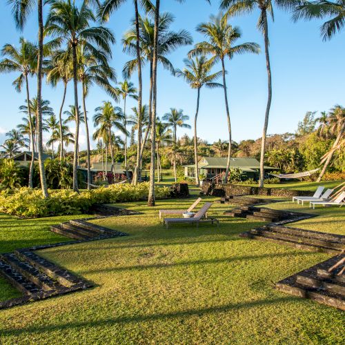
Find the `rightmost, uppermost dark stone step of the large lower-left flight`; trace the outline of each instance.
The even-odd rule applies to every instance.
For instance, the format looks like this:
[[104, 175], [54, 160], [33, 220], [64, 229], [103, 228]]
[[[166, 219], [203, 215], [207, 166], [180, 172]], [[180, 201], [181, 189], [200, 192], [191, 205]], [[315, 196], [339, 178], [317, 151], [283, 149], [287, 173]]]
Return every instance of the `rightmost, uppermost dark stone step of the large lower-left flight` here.
[[65, 270], [64, 268], [61, 268], [53, 264], [52, 262], [43, 259], [43, 257], [40, 257], [35, 253], [23, 250], [17, 250], [15, 253], [22, 260], [25, 260], [35, 268], [43, 271], [44, 273], [46, 273], [46, 275], [48, 275], [52, 279], [57, 280], [57, 282], [59, 282], [63, 286], [78, 286], [81, 282], [83, 282], [83, 284], [86, 284], [86, 287], [92, 286], [91, 284], [83, 281], [83, 279], [68, 272], [68, 270]]

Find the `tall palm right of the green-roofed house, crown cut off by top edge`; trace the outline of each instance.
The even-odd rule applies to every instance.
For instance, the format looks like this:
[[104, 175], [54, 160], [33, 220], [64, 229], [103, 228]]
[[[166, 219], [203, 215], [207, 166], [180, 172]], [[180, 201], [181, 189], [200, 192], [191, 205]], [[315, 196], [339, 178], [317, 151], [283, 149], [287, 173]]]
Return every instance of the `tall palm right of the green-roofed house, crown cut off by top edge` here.
[[[297, 1], [295, 0], [275, 0], [275, 5], [278, 8], [289, 9], [293, 8]], [[266, 104], [264, 129], [262, 131], [262, 146], [260, 154], [260, 178], [259, 187], [264, 187], [264, 159], [266, 147], [266, 135], [268, 128], [268, 119], [270, 117], [270, 103], [272, 101], [272, 74], [270, 70], [270, 54], [268, 50], [268, 19], [270, 15], [273, 19], [273, 0], [221, 0], [221, 8], [227, 10], [229, 16], [237, 16], [240, 14], [248, 14], [256, 9], [259, 9], [260, 15], [257, 22], [257, 28], [264, 34], [265, 56], [266, 56], [266, 70], [268, 79], [268, 97]]]

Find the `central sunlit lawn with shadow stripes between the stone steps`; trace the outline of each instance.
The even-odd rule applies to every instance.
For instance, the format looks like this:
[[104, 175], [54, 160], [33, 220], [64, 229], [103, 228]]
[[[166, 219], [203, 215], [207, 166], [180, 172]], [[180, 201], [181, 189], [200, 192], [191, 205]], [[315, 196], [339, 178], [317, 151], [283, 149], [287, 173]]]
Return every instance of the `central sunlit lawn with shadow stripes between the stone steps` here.
[[[205, 200], [212, 198], [204, 198]], [[130, 236], [41, 250], [95, 288], [0, 311], [3, 343], [331, 344], [344, 340], [344, 314], [273, 288], [330, 257], [238, 234], [254, 221], [210, 216], [221, 226], [159, 224], [159, 208], [192, 199], [121, 204], [143, 215], [94, 222]], [[276, 206], [277, 204], [275, 204]], [[319, 217], [322, 220], [322, 217]]]

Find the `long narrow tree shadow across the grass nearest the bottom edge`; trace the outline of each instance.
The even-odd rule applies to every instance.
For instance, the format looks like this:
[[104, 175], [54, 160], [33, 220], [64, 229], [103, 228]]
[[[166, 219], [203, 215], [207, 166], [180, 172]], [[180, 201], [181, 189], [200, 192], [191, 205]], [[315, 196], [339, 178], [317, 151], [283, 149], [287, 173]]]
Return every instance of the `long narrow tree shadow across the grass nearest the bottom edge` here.
[[41, 332], [66, 331], [81, 327], [109, 327], [119, 324], [131, 324], [139, 322], [152, 321], [169, 321], [170, 319], [185, 319], [188, 317], [202, 317], [204, 315], [211, 315], [217, 313], [228, 313], [230, 311], [240, 311], [243, 309], [256, 308], [259, 306], [269, 306], [274, 304], [291, 303], [301, 301], [299, 297], [287, 296], [277, 297], [273, 299], [259, 299], [257, 301], [239, 302], [233, 304], [226, 304], [224, 306], [213, 306], [209, 308], [186, 309], [183, 311], [176, 311], [173, 313], [155, 313], [151, 315], [136, 315], [124, 317], [112, 317], [108, 319], [92, 320], [85, 322], [68, 322], [68, 324], [52, 324], [43, 326], [30, 326], [27, 328], [5, 329], [1, 331], [1, 335], [21, 335]]

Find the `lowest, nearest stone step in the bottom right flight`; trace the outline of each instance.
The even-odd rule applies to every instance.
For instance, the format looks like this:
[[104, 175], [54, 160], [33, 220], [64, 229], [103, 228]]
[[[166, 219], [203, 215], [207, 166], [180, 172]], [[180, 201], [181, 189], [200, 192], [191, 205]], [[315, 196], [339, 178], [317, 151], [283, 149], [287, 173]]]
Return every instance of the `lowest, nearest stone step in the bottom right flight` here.
[[295, 282], [295, 278], [288, 277], [282, 281], [275, 284], [278, 290], [284, 293], [289, 293], [290, 295], [295, 295], [298, 297], [304, 297], [313, 299], [316, 302], [326, 304], [327, 306], [333, 306], [345, 311], [345, 297], [335, 293], [331, 293], [326, 290], [317, 290], [315, 288], [310, 288]]

